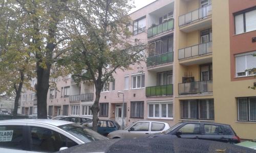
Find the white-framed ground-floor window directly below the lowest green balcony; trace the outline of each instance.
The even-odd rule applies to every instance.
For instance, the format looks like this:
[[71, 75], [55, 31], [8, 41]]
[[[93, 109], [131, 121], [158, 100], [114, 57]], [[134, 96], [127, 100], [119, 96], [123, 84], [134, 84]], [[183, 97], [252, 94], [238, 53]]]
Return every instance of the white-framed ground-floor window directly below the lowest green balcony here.
[[148, 104], [148, 118], [173, 118], [173, 103]]

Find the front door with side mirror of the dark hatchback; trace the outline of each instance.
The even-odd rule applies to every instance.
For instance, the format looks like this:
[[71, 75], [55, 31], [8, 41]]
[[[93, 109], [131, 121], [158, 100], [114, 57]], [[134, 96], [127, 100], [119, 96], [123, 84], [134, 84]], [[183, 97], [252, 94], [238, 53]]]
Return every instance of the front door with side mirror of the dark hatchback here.
[[[181, 132], [177, 135], [177, 132]], [[201, 123], [186, 123], [179, 127], [173, 135], [179, 138], [201, 139]]]

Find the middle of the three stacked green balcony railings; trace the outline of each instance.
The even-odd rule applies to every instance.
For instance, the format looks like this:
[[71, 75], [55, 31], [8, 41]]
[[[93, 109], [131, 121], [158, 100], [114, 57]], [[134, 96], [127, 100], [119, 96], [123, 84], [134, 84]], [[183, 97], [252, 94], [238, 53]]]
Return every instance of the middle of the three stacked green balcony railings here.
[[148, 57], [146, 66], [149, 67], [149, 66], [154, 66], [154, 65], [164, 64], [164, 63], [170, 63], [173, 61], [174, 61], [174, 53], [169, 52], [165, 54]]

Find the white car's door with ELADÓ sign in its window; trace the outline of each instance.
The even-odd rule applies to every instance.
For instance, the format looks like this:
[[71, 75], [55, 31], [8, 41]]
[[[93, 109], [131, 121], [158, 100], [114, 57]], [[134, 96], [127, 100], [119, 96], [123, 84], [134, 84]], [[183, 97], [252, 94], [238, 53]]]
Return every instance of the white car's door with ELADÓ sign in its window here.
[[0, 152], [25, 153], [28, 142], [26, 139], [26, 123], [0, 124]]

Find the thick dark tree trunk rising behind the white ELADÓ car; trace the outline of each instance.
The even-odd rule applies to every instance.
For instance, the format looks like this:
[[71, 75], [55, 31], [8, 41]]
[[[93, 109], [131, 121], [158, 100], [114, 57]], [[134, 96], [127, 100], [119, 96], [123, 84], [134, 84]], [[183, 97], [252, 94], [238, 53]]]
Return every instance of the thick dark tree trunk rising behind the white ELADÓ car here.
[[37, 84], [37, 118], [47, 119], [47, 93], [49, 89], [49, 78], [51, 64], [44, 69], [40, 66], [41, 61], [36, 63]]

